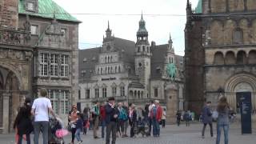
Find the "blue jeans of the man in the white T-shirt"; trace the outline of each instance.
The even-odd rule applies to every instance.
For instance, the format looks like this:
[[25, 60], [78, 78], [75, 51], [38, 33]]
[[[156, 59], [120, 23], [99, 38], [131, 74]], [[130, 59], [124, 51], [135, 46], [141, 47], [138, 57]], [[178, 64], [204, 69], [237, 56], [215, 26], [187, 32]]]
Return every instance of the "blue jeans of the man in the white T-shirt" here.
[[48, 127], [47, 121], [34, 122], [34, 144], [38, 144], [40, 130], [42, 130], [43, 144], [48, 144]]

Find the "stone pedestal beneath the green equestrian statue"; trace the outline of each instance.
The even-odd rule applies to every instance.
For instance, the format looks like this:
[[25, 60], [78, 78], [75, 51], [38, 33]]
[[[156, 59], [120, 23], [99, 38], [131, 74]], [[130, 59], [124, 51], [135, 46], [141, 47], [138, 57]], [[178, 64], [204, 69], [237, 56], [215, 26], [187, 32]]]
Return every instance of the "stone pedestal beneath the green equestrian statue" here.
[[178, 110], [178, 89], [174, 83], [166, 85], [166, 102], [166, 123], [174, 124]]

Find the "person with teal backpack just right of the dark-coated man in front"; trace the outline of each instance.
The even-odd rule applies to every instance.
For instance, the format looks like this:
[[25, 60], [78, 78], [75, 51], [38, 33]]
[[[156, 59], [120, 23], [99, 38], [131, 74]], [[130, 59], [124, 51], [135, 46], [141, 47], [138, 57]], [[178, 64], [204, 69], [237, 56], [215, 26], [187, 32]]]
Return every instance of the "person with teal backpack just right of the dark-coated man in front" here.
[[118, 111], [119, 111], [119, 115], [118, 115], [118, 131], [120, 134], [120, 130], [121, 130], [121, 134], [120, 136], [123, 138], [124, 137], [124, 131], [125, 131], [125, 122], [127, 119], [127, 114], [126, 114], [126, 110], [122, 107], [122, 102], [118, 103]]

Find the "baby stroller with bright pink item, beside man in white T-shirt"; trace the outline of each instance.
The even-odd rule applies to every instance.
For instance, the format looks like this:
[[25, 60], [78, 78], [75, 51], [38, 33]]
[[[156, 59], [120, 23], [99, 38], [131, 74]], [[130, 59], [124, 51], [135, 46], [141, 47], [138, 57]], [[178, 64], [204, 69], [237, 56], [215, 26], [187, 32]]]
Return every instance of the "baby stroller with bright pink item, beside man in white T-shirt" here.
[[60, 118], [49, 118], [49, 144], [64, 144], [64, 135], [67, 133]]

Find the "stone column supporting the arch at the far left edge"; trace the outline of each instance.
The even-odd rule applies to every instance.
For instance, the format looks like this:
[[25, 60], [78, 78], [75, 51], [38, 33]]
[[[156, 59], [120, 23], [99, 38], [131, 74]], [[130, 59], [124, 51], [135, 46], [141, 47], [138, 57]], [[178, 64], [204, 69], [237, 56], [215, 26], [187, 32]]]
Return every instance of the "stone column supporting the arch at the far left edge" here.
[[9, 100], [10, 100], [10, 93], [2, 94], [2, 106], [3, 106], [3, 113], [2, 113], [2, 133], [8, 134], [9, 133]]

